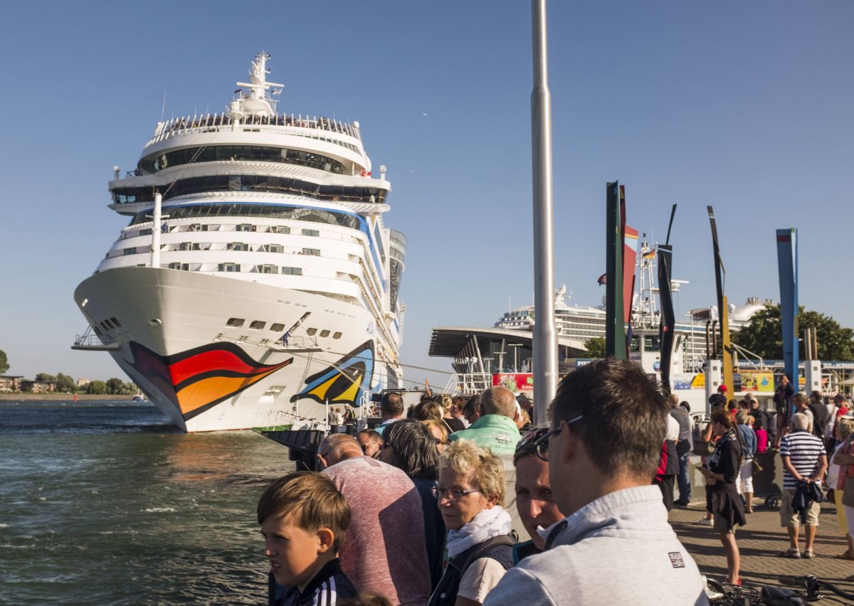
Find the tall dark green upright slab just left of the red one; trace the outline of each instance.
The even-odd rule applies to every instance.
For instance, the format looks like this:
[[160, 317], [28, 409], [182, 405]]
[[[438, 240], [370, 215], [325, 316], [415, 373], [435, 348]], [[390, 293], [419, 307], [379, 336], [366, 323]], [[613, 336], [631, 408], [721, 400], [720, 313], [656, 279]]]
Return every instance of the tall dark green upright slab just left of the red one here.
[[626, 352], [623, 309], [623, 220], [620, 184], [605, 185], [605, 356], [624, 360]]

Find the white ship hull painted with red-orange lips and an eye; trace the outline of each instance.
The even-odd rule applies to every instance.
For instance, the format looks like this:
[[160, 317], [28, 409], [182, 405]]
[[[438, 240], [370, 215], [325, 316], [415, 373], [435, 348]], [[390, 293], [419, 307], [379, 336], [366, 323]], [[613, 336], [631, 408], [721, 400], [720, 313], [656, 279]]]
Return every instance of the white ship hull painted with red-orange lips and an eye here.
[[[91, 322], [117, 321], [106, 338], [116, 347], [111, 355], [187, 432], [325, 422], [326, 401], [364, 405], [371, 389], [400, 376], [386, 354], [395, 348], [383, 343], [371, 313], [320, 294], [123, 267], [87, 278], [74, 300]], [[301, 318], [287, 344], [271, 330]]]

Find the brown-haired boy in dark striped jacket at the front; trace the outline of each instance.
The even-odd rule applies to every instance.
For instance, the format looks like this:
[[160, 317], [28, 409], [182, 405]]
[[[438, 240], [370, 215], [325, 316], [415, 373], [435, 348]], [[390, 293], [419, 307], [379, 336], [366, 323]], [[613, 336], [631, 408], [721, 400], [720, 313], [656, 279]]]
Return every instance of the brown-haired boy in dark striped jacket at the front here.
[[271, 606], [332, 606], [358, 597], [338, 562], [350, 508], [323, 474], [299, 471], [274, 481], [258, 501]]

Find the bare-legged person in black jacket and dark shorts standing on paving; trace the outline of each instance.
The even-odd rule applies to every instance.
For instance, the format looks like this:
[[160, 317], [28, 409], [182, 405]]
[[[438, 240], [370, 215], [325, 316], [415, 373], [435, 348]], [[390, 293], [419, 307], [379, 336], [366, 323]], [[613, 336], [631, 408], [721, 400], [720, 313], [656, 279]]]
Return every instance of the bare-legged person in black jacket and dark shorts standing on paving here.
[[745, 511], [735, 482], [744, 460], [744, 445], [728, 411], [718, 408], [711, 411], [712, 432], [721, 437], [715, 443], [715, 452], [708, 460], [708, 468], [700, 468], [706, 484], [711, 487], [711, 511], [715, 514], [715, 530], [721, 535], [727, 553], [728, 582], [740, 585], [740, 554], [735, 542], [735, 525], [745, 525]]

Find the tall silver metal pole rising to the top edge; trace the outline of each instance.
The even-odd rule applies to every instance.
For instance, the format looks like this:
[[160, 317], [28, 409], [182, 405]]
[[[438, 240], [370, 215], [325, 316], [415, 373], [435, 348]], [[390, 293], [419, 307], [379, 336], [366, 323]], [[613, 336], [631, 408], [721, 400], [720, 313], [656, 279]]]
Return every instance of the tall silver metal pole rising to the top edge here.
[[531, 160], [534, 194], [534, 422], [547, 421], [558, 387], [558, 333], [554, 327], [552, 94], [548, 90], [546, 0], [531, 0], [534, 88]]

